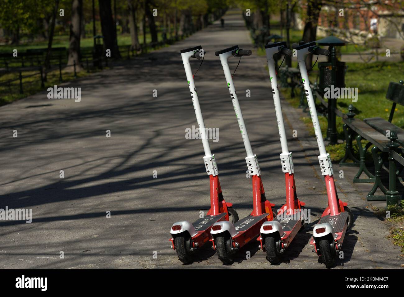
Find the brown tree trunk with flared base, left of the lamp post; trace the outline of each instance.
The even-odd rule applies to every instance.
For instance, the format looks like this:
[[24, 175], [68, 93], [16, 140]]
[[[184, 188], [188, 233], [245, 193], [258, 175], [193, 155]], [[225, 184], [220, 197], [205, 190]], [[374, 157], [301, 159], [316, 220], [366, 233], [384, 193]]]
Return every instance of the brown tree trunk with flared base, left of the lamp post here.
[[72, 1], [72, 21], [70, 25], [69, 37], [69, 55], [67, 58], [67, 69], [74, 70], [74, 63], [76, 63], [76, 71], [82, 70], [80, 64], [80, 36], [83, 17], [83, 0]]

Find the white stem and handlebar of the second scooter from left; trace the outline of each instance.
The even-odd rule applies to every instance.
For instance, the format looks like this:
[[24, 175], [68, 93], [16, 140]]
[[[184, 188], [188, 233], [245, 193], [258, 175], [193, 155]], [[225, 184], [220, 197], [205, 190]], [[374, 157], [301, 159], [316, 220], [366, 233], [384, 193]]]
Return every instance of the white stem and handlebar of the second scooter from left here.
[[[226, 48], [222, 51], [217, 51], [216, 55], [219, 56], [220, 62], [223, 67], [223, 72], [225, 74], [225, 78], [226, 78], [226, 82], [227, 82], [227, 88], [229, 89], [231, 102], [233, 103], [234, 112], [236, 113], [238, 126], [239, 126], [240, 133], [241, 133], [241, 136], [242, 136], [242, 139], [244, 142], [244, 147], [246, 149], [246, 153], [247, 153], [246, 162], [247, 162], [248, 171], [249, 171], [250, 175], [259, 176], [259, 175], [261, 175], [261, 170], [259, 169], [257, 156], [252, 153], [250, 139], [248, 138], [247, 128], [244, 123], [244, 118], [243, 118], [243, 114], [241, 112], [240, 103], [238, 102], [236, 88], [234, 87], [233, 78], [231, 76], [231, 72], [230, 72], [230, 68], [229, 68], [228, 59], [229, 59], [229, 57], [234, 57], [234, 54], [233, 54], [234, 51], [239, 51], [238, 46], [233, 46], [231, 48]], [[243, 51], [243, 50], [240, 50], [240, 51]], [[251, 55], [251, 51], [249, 51], [249, 55]]]

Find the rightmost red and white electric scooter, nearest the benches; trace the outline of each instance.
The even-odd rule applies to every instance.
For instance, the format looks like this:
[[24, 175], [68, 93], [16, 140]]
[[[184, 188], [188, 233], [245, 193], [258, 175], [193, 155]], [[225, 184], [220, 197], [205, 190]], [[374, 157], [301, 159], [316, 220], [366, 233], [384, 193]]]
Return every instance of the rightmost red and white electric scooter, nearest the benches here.
[[335, 257], [342, 248], [345, 233], [352, 226], [353, 215], [347, 207], [348, 204], [338, 198], [333, 177], [332, 162], [330, 154], [327, 154], [324, 146], [324, 139], [321, 133], [320, 122], [317, 116], [313, 93], [311, 93], [309, 76], [305, 64], [305, 57], [309, 53], [327, 56], [330, 52], [316, 46], [316, 42], [305, 43], [301, 41], [299, 44], [292, 44], [292, 48], [297, 51], [297, 61], [299, 63], [311, 121], [313, 122], [314, 132], [316, 133], [318, 150], [320, 151], [318, 161], [320, 162], [321, 173], [324, 175], [328, 196], [328, 207], [322, 213], [318, 224], [313, 228], [313, 237], [310, 240], [310, 244], [314, 245], [313, 251], [321, 256], [326, 267], [332, 267], [335, 263]]

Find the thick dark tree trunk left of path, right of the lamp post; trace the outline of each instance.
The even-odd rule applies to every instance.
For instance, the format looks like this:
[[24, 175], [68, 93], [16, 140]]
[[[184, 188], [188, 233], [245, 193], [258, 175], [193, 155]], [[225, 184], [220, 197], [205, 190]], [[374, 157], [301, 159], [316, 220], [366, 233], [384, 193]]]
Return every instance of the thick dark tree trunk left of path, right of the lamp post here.
[[111, 57], [120, 58], [116, 25], [112, 18], [111, 0], [98, 0], [100, 8], [101, 30], [104, 36], [104, 48], [111, 50]]

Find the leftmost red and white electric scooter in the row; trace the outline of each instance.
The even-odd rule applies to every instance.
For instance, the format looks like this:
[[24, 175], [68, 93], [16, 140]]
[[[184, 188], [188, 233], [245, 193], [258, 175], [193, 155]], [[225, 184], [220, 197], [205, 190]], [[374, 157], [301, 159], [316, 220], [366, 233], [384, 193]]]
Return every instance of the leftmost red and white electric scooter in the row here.
[[233, 204], [225, 202], [223, 199], [222, 189], [219, 183], [216, 157], [210, 151], [202, 111], [198, 101], [198, 94], [196, 93], [194, 75], [192, 75], [189, 61], [191, 58], [198, 60], [202, 59], [203, 61], [204, 51], [202, 46], [181, 50], [181, 57], [185, 68], [189, 91], [191, 92], [192, 103], [194, 104], [198, 128], [200, 135], [202, 136], [202, 145], [205, 152], [203, 160], [210, 181], [210, 209], [206, 216], [198, 219], [192, 224], [188, 221], [176, 222], [173, 224], [170, 231], [173, 236], [173, 238], [170, 239], [172, 243], [171, 248], [177, 251], [178, 258], [181, 262], [190, 263], [193, 259], [194, 253], [210, 240], [210, 228], [212, 225], [217, 221], [224, 220], [230, 220], [232, 223], [236, 223], [236, 221], [238, 221], [238, 214], [231, 207]]

